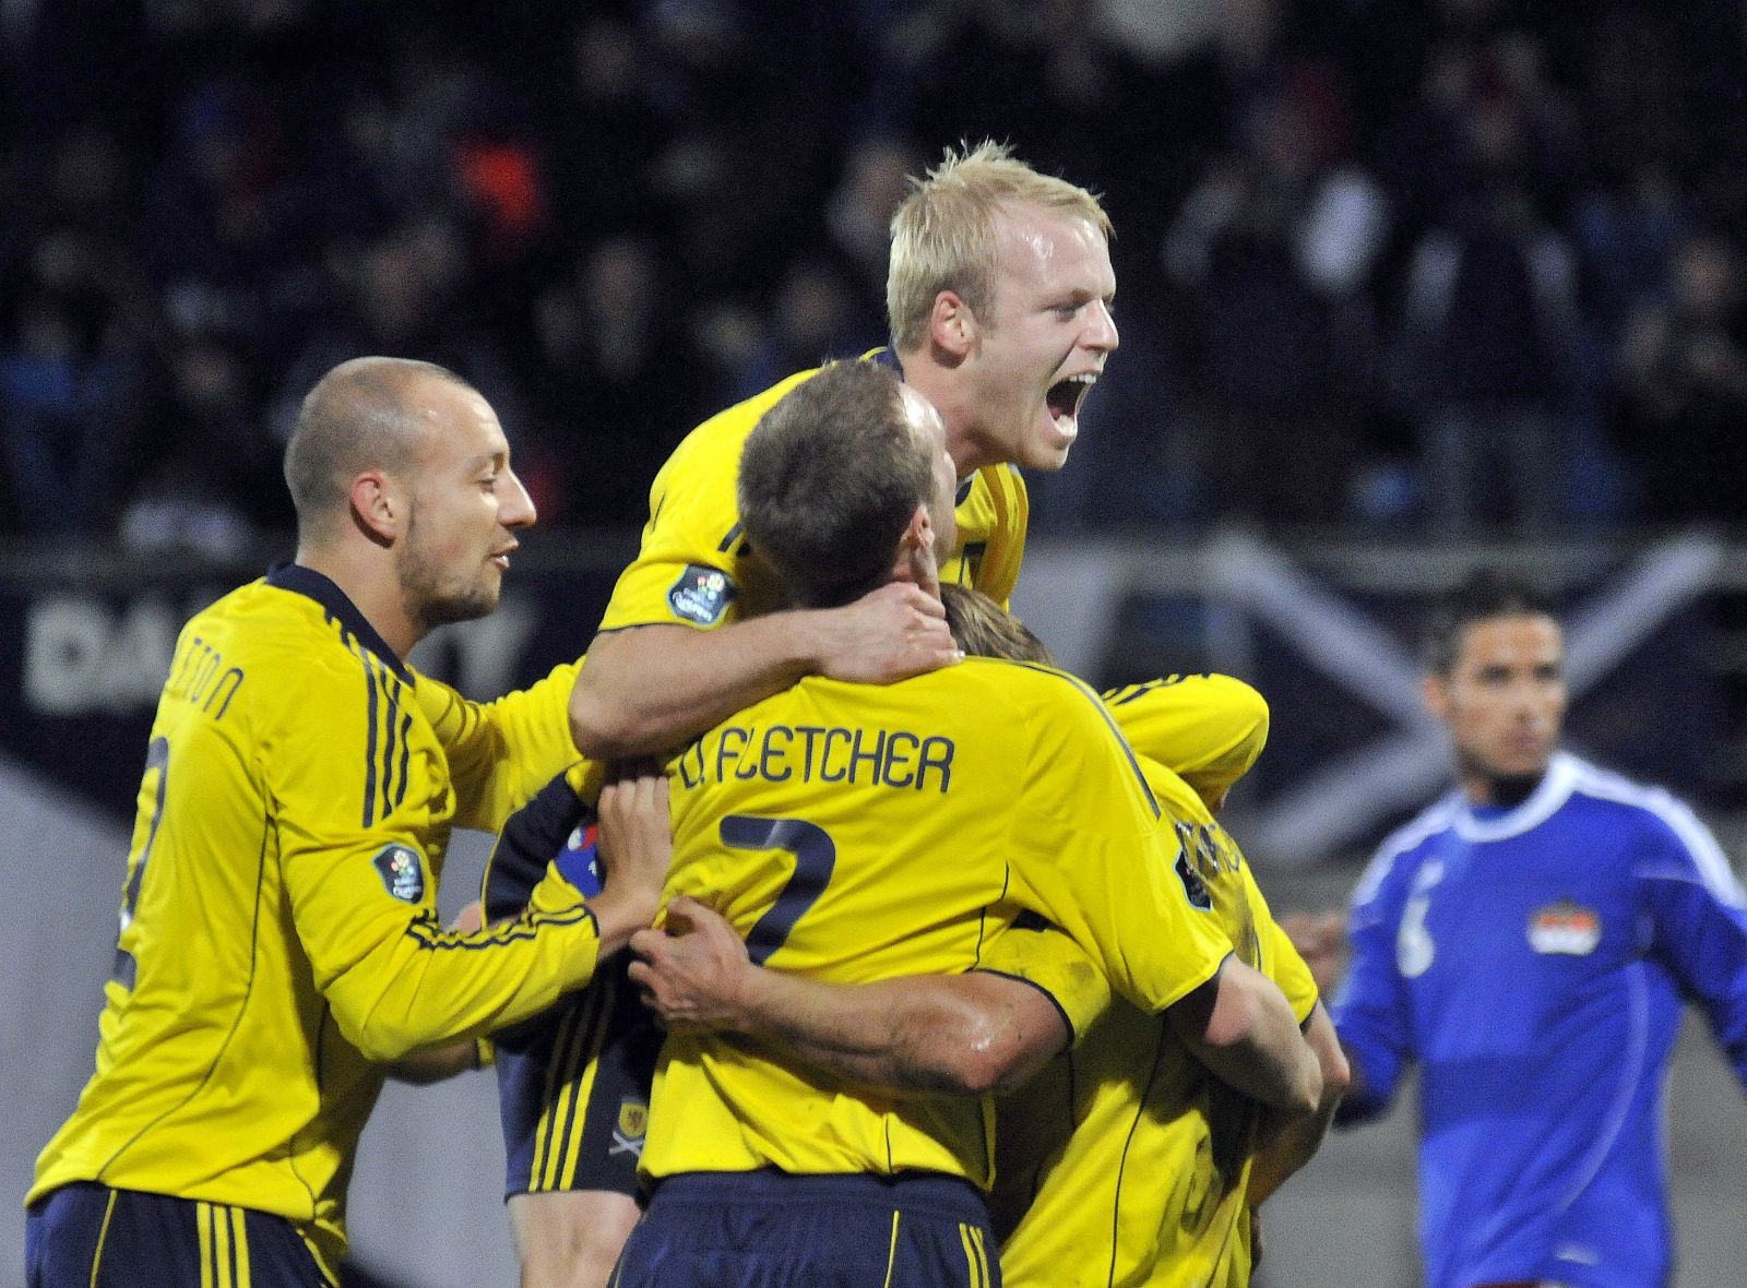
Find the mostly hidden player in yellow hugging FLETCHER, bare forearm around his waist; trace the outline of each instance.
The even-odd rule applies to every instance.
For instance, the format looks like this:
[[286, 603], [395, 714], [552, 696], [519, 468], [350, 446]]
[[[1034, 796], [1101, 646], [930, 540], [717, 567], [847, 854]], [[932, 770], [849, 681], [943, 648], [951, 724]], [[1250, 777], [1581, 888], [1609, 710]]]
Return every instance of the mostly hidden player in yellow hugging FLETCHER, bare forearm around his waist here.
[[[1039, 656], [1036, 639], [999, 607], [973, 595], [949, 597], [947, 607], [966, 653]], [[687, 935], [634, 939], [650, 965], [632, 976], [669, 1028], [786, 1042], [877, 1086], [1025, 1082], [1003, 1098], [996, 1133], [996, 1229], [1010, 1285], [1235, 1288], [1249, 1283], [1253, 1264], [1249, 1209], [1309, 1159], [1347, 1073], [1307, 967], [1212, 817], [1261, 750], [1261, 698], [1225, 677], [1172, 677], [1106, 696], [1176, 819], [1191, 901], [1303, 1021], [1324, 1066], [1317, 1113], [1272, 1112], [1209, 1077], [1209, 1066], [1237, 1079], [1242, 1070], [1167, 1023], [1109, 1004], [1085, 955], [1053, 930], [1001, 935], [978, 974], [844, 990], [751, 969], [722, 918], [680, 902], [669, 920], [678, 915]], [[1150, 759], [1153, 749], [1176, 756], [1183, 773]], [[1048, 1059], [1071, 1038], [1073, 1052]]]

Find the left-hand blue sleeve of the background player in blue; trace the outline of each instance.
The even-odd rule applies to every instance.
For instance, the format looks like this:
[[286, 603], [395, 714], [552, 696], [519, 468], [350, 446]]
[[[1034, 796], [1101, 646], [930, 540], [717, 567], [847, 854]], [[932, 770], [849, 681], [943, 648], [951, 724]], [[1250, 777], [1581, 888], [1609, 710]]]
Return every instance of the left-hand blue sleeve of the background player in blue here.
[[1396, 963], [1405, 885], [1401, 860], [1378, 855], [1354, 892], [1352, 963], [1331, 1007], [1354, 1066], [1352, 1089], [1335, 1117], [1338, 1124], [1364, 1122], [1389, 1108], [1412, 1059], [1406, 988]]

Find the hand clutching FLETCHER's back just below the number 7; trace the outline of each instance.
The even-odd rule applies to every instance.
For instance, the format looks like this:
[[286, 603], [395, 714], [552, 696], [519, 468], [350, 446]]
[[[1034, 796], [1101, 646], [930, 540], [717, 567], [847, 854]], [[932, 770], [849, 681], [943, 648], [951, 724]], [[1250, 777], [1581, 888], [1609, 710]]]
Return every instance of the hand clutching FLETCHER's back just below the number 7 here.
[[685, 895], [667, 904], [664, 930], [631, 937], [631, 981], [669, 1031], [734, 1030], [758, 967], [720, 915]]

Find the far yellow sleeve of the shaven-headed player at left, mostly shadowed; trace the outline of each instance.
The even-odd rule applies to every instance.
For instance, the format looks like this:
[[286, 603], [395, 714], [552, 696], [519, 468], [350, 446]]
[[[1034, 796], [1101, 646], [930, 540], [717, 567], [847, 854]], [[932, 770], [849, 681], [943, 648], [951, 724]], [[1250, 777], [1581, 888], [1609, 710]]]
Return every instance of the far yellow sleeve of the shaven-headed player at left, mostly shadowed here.
[[578, 757], [570, 736], [570, 691], [580, 661], [554, 667], [526, 689], [470, 702], [430, 675], [412, 686], [419, 710], [449, 757], [454, 826], [496, 832], [535, 792]]

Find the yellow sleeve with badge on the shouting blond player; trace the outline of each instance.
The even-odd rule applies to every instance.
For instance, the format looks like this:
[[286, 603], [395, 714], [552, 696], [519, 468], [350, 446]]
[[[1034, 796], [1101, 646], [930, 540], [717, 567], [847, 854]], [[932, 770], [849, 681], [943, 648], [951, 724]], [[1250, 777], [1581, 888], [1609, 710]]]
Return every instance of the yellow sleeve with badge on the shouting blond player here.
[[814, 372], [791, 375], [718, 412], [674, 449], [650, 487], [643, 543], [636, 560], [618, 574], [601, 630], [648, 625], [711, 630], [772, 607], [767, 586], [748, 585], [753, 560], [741, 534], [735, 482], [746, 436], [809, 375]]

